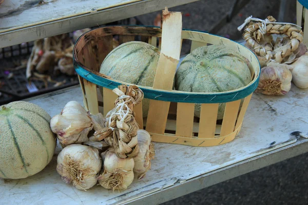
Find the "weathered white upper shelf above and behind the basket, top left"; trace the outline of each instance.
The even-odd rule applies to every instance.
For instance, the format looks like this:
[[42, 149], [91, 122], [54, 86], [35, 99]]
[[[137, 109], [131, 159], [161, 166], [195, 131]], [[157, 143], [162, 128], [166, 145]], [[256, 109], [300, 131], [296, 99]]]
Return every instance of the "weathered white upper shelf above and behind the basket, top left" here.
[[198, 0], [5, 0], [0, 48]]

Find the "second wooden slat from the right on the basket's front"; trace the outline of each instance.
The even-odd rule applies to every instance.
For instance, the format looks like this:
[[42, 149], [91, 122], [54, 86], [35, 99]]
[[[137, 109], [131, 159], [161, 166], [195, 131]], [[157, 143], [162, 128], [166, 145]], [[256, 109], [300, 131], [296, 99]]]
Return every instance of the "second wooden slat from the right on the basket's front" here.
[[223, 115], [220, 136], [226, 136], [234, 131], [235, 122], [238, 116], [241, 100], [226, 103]]

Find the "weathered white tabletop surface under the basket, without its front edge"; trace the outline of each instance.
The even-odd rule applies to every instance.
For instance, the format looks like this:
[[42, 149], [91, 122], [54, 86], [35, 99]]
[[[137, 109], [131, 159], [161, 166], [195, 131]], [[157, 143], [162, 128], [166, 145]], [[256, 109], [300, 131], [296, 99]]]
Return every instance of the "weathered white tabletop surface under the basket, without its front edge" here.
[[[53, 116], [60, 113], [69, 100], [82, 104], [81, 89], [30, 101]], [[144, 179], [135, 179], [128, 190], [120, 193], [100, 186], [84, 192], [64, 183], [55, 171], [56, 154], [61, 150], [58, 145], [55, 156], [42, 172], [20, 180], [0, 179], [0, 204], [117, 204], [159, 192], [174, 186], [175, 182], [190, 180], [296, 142], [290, 133], [308, 134], [307, 103], [308, 90], [297, 89], [294, 85], [285, 96], [255, 93], [234, 141], [207, 148], [155, 143], [156, 158], [152, 160], [151, 170]]]

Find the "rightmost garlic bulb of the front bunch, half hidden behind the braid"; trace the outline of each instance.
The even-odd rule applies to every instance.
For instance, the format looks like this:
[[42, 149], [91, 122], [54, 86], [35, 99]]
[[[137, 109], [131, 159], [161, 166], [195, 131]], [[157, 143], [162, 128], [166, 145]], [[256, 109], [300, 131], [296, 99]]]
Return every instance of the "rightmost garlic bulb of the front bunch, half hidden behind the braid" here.
[[142, 179], [145, 176], [145, 173], [151, 168], [151, 158], [154, 157], [154, 147], [151, 144], [151, 136], [145, 130], [138, 130], [138, 145], [139, 145], [139, 154], [137, 157], [134, 157], [135, 162], [133, 172], [138, 174], [138, 179]]

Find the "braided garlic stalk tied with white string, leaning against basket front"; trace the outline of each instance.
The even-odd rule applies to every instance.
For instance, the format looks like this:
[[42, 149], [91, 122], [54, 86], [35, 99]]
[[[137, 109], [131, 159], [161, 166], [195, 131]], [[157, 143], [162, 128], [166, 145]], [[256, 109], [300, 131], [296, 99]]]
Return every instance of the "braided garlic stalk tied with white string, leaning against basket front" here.
[[106, 115], [106, 126], [95, 131], [92, 141], [105, 139], [109, 150], [120, 158], [136, 157], [139, 153], [137, 131], [139, 126], [134, 118], [133, 108], [141, 103], [143, 92], [135, 85], [121, 85], [113, 90], [119, 97], [115, 108]]

